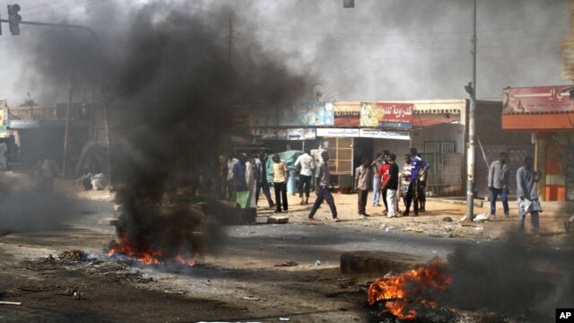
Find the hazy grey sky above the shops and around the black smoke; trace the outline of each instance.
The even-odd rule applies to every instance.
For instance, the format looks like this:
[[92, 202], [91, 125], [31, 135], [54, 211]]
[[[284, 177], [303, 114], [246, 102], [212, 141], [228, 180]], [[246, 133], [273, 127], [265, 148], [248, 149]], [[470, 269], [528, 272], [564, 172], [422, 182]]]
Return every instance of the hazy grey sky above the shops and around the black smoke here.
[[[125, 32], [117, 22], [150, 1], [21, 0], [24, 21], [85, 24], [100, 33]], [[500, 100], [505, 86], [570, 83], [561, 80], [560, 40], [570, 35], [567, 0], [478, 0], [477, 97]], [[171, 2], [178, 7], [175, 1]], [[6, 18], [0, 0], [0, 14]], [[259, 43], [295, 71], [318, 75], [336, 100], [424, 100], [465, 98], [471, 81], [472, 0], [204, 0], [187, 10], [230, 5], [233, 50]], [[121, 14], [115, 14], [121, 13]], [[102, 18], [103, 17], [103, 18]], [[112, 19], [112, 18], [109, 18]], [[205, 21], [210, 16], [205, 14]], [[20, 103], [30, 92], [39, 100], [65, 101], [65, 86], [42, 83], [30, 65], [30, 42], [39, 27], [21, 26], [0, 36], [0, 98]], [[229, 31], [221, 23], [221, 40]], [[86, 36], [88, 37], [88, 36]], [[41, 49], [40, 49], [41, 50]], [[240, 62], [239, 62], [240, 63]], [[63, 82], [65, 83], [65, 82]], [[309, 86], [312, 92], [312, 86]], [[53, 103], [53, 102], [49, 102]]]

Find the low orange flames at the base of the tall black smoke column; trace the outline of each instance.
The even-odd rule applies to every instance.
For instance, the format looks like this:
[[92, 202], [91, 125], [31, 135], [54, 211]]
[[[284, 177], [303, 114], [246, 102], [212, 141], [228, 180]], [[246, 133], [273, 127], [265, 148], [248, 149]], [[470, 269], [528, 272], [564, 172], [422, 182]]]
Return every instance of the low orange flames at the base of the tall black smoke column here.
[[[127, 258], [142, 262], [145, 265], [162, 265], [163, 261], [161, 259], [165, 257], [165, 252], [161, 250], [140, 250], [137, 246], [128, 243], [126, 235], [123, 233], [119, 235], [119, 241], [115, 241], [107, 252], [108, 257], [112, 257], [116, 253], [124, 254]], [[196, 261], [193, 258], [186, 258], [181, 254], [178, 254], [174, 261], [187, 266], [196, 265]]]

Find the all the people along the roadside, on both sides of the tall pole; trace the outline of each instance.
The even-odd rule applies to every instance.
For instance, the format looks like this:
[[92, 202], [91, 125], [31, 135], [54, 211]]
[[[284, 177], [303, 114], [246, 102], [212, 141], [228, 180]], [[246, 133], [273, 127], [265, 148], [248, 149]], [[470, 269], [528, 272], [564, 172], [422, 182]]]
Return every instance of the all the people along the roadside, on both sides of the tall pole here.
[[[267, 159], [271, 158], [272, 172], [267, 179]], [[500, 153], [499, 160], [492, 162], [488, 174], [488, 188], [491, 200], [491, 218], [496, 217], [496, 202], [500, 197], [503, 212], [509, 217], [509, 166], [507, 153]], [[318, 161], [318, 162], [317, 162]], [[309, 212], [308, 220], [315, 221], [317, 209], [325, 202], [333, 217], [338, 222], [335, 199], [331, 194], [330, 173], [328, 167], [329, 154], [324, 151], [316, 161], [309, 151], [300, 154], [294, 162], [294, 170], [299, 178], [297, 191], [300, 205], [309, 205], [311, 188], [315, 188], [316, 199]], [[366, 219], [366, 208], [369, 192], [372, 191], [372, 206], [383, 207], [382, 214], [389, 218], [397, 216], [417, 216], [426, 211], [426, 183], [429, 177], [430, 165], [421, 158], [416, 148], [411, 148], [404, 155], [404, 165], [399, 167], [396, 154], [385, 150], [378, 153], [374, 161], [364, 158], [355, 170], [354, 188], [357, 192], [358, 214]], [[235, 157], [220, 158], [220, 197], [236, 201], [243, 208], [252, 209], [255, 213], [261, 191], [265, 195], [269, 208], [275, 208], [275, 213], [289, 210], [287, 199], [287, 184], [290, 170], [278, 153], [268, 157], [266, 153], [238, 153]], [[314, 181], [312, 180], [314, 177]], [[539, 213], [542, 205], [536, 193], [536, 183], [540, 172], [534, 170], [532, 157], [526, 157], [524, 166], [517, 170], [517, 205], [518, 228], [524, 231], [527, 214], [531, 214], [531, 228], [539, 229]], [[270, 184], [274, 188], [274, 199], [271, 196]], [[404, 210], [401, 211], [399, 201], [403, 200]], [[382, 201], [382, 205], [381, 205]], [[570, 223], [567, 230], [570, 231]]]

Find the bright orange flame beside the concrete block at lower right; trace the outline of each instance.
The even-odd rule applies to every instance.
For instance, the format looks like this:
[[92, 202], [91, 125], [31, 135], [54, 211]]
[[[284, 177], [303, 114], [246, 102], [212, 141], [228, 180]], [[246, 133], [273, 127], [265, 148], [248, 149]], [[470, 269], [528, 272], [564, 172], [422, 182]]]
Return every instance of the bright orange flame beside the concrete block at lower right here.
[[376, 279], [370, 284], [367, 299], [370, 305], [385, 301], [385, 308], [399, 319], [416, 319], [417, 305], [424, 308], [437, 306], [436, 301], [422, 299], [422, 293], [444, 291], [451, 283], [452, 279], [441, 270], [440, 259], [435, 258], [430, 266]]

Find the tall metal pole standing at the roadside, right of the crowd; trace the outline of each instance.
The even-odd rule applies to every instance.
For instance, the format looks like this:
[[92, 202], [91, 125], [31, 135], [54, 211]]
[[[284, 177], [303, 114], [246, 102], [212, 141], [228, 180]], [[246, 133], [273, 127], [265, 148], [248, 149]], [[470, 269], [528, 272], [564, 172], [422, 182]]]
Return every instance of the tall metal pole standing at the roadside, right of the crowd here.
[[473, 1], [473, 86], [468, 113], [468, 152], [466, 153], [466, 221], [474, 218], [474, 121], [476, 112], [476, 0]]

